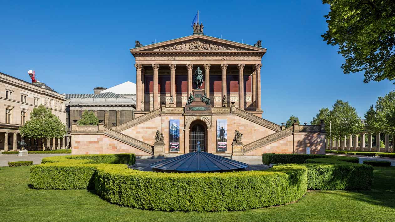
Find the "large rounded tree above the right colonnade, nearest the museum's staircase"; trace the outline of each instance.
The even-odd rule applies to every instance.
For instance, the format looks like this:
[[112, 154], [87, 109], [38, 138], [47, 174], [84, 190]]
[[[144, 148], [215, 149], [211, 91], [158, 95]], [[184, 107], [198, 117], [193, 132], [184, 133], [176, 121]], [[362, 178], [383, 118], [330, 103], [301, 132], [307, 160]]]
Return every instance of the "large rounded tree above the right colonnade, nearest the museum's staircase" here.
[[350, 106], [348, 102], [338, 100], [332, 107], [327, 121], [331, 121], [333, 137], [344, 139], [344, 136], [354, 135], [362, 131], [361, 118], [359, 118], [355, 108]]

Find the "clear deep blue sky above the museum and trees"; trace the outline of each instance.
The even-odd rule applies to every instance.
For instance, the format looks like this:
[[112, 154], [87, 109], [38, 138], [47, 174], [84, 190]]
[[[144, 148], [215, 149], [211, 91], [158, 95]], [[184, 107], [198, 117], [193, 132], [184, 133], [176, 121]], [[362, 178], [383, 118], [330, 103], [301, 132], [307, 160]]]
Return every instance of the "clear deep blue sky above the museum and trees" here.
[[360, 116], [395, 86], [344, 75], [344, 59], [321, 34], [329, 7], [301, 1], [1, 1], [0, 72], [59, 93], [135, 82], [135, 40], [143, 45], [188, 36], [196, 11], [205, 34], [267, 48], [262, 60], [263, 118], [310, 122], [322, 107], [348, 101]]

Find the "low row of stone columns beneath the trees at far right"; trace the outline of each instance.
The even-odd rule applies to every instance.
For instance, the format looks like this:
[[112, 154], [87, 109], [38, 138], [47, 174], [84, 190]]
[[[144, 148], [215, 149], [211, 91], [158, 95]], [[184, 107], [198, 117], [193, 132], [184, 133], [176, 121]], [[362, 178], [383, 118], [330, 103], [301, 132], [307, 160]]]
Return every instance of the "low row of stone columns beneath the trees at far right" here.
[[[376, 133], [376, 146], [373, 147], [372, 146], [372, 135], [373, 135], [372, 133], [360, 133], [360, 134], [356, 134], [356, 135], [344, 136], [344, 138], [336, 138], [335, 137], [335, 139], [332, 139], [331, 142], [329, 142], [329, 149], [331, 149], [331, 150], [361, 150], [361, 151], [380, 152], [380, 148], [384, 148], [385, 149], [384, 152], [390, 151], [389, 134], [386, 134], [384, 137], [384, 147], [380, 147], [380, 133]], [[365, 136], [367, 136], [367, 138], [368, 138], [367, 144], [365, 144]]]

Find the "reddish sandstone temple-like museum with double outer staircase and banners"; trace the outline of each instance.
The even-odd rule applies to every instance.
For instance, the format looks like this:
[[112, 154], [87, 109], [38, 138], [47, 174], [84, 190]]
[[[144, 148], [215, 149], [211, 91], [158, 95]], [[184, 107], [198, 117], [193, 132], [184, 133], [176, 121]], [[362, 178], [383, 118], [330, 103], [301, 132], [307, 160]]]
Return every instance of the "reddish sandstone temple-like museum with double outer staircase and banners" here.
[[[231, 156], [324, 154], [321, 125], [286, 128], [262, 117], [261, 41], [242, 44], [193, 35], [130, 49], [135, 57], [134, 119], [72, 126], [73, 154], [177, 156], [197, 149]], [[263, 105], [264, 106], [264, 105]]]

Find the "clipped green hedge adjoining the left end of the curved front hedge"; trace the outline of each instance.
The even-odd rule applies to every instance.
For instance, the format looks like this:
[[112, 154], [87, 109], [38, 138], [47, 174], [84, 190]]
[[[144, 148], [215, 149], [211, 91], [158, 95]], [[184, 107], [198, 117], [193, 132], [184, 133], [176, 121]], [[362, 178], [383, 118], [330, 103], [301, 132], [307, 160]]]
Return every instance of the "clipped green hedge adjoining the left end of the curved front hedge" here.
[[98, 154], [45, 157], [30, 169], [30, 182], [36, 189], [94, 188], [94, 173], [99, 164], [116, 164], [127, 169], [135, 154]]

